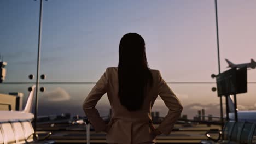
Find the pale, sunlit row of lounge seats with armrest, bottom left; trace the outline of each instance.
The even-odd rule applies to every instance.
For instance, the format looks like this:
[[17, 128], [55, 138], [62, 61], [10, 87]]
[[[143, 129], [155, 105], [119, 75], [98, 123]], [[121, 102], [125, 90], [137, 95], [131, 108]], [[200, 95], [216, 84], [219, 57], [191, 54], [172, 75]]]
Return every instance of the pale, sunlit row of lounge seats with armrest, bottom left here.
[[[46, 134], [39, 138], [38, 134]], [[36, 135], [36, 136], [34, 136]], [[34, 132], [30, 121], [2, 122], [0, 123], [0, 144], [7, 143], [54, 143], [46, 141], [51, 135], [48, 132]]]

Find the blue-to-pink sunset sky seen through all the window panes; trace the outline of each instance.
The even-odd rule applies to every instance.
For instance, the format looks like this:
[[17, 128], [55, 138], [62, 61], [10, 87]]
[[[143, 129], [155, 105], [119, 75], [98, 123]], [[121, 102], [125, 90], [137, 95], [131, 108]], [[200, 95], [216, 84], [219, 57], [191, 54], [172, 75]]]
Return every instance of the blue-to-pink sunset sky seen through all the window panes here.
[[[256, 59], [256, 1], [218, 1], [221, 71], [225, 58], [234, 63]], [[0, 1], [0, 54], [7, 65], [5, 82], [35, 82], [39, 1]], [[107, 67], [118, 65], [118, 45], [129, 32], [146, 41], [149, 67], [161, 71], [166, 82], [214, 82], [218, 73], [214, 1], [44, 1], [40, 82], [97, 82]], [[256, 82], [256, 70], [248, 70]], [[0, 85], [0, 93], [23, 92], [26, 85]], [[94, 86], [40, 85], [39, 114], [79, 113], [82, 101]], [[170, 84], [185, 107], [184, 114], [219, 115], [214, 84]], [[238, 108], [256, 110], [256, 84], [237, 95]], [[26, 97], [25, 97], [26, 99]], [[97, 107], [106, 115], [104, 95]], [[62, 107], [61, 107], [62, 106]], [[214, 109], [215, 108], [215, 109]], [[153, 111], [165, 115], [161, 99]], [[48, 111], [53, 110], [53, 111]], [[190, 114], [190, 116], [192, 116]]]

